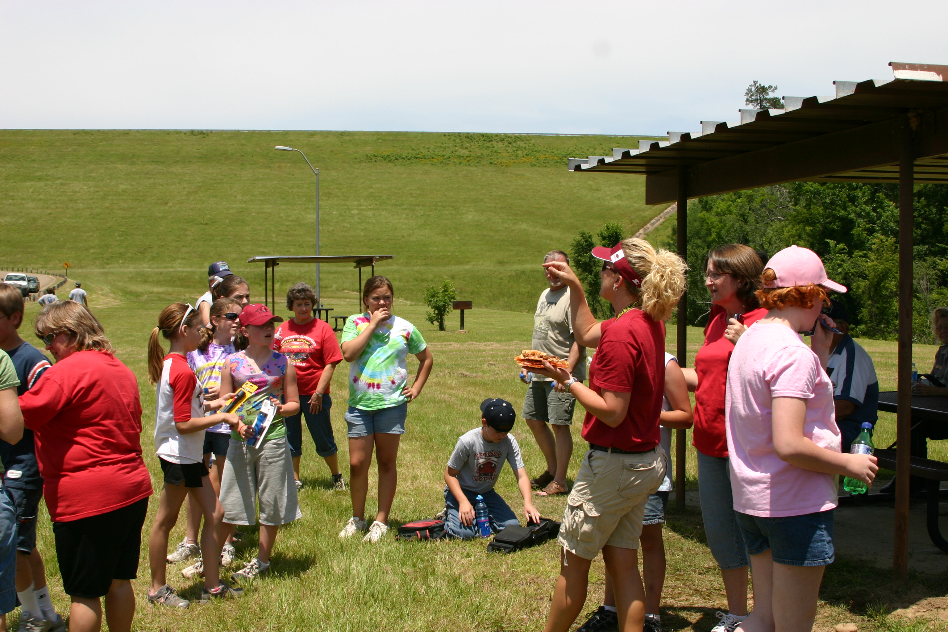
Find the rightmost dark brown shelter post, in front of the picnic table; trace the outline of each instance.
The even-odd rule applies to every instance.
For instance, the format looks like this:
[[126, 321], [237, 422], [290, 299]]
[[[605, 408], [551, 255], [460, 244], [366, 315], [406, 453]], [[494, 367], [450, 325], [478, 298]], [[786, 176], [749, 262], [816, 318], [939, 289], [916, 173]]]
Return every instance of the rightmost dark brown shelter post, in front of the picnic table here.
[[896, 441], [895, 536], [892, 570], [908, 578], [909, 469], [912, 444], [912, 258], [914, 241], [915, 151], [912, 126], [906, 117], [899, 161], [899, 399]]

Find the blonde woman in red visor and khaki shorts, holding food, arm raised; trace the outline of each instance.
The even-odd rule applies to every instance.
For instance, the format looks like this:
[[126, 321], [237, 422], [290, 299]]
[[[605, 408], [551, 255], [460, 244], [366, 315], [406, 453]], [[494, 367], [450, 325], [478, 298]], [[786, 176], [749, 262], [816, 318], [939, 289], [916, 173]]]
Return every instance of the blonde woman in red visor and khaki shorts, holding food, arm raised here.
[[586, 408], [582, 436], [590, 442], [559, 531], [563, 561], [546, 632], [565, 632], [575, 621], [599, 551], [612, 578], [619, 627], [641, 629], [645, 590], [638, 571], [639, 537], [648, 495], [665, 479], [659, 446], [665, 390], [662, 321], [682, 297], [685, 264], [641, 239], [593, 248], [593, 257], [603, 261], [599, 295], [616, 313], [605, 331], [569, 265], [544, 263], [570, 286], [576, 342], [596, 349], [590, 388], [549, 363], [535, 370], [562, 384]]

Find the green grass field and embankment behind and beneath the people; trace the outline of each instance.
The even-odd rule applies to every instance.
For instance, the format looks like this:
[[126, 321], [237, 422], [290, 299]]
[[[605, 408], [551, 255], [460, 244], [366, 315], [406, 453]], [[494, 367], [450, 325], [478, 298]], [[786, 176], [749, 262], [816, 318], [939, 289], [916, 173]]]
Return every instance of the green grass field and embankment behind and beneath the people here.
[[[660, 209], [643, 203], [636, 177], [598, 177], [565, 171], [566, 155], [628, 146], [628, 137], [422, 135], [372, 133], [0, 132], [0, 226], [8, 238], [0, 266], [54, 269], [72, 264], [118, 357], [135, 370], [145, 412], [142, 445], [160, 489], [152, 433], [155, 390], [146, 378], [145, 348], [155, 318], [173, 300], [204, 291], [208, 263], [226, 260], [262, 295], [263, 270], [246, 265], [255, 254], [312, 252], [312, 174], [300, 156], [277, 153], [276, 144], [299, 146], [323, 171], [324, 254], [395, 254], [379, 265], [395, 284], [395, 313], [428, 339], [435, 366], [422, 397], [410, 406], [400, 452], [399, 493], [392, 524], [434, 515], [442, 506], [442, 475], [456, 438], [478, 424], [478, 403], [503, 397], [520, 406], [523, 386], [512, 356], [529, 344], [532, 313], [543, 287], [539, 262], [551, 248], [566, 248], [580, 228], [598, 230], [621, 221], [629, 234]], [[667, 234], [674, 217], [660, 226]], [[335, 314], [356, 312], [356, 272], [323, 266], [324, 302]], [[467, 334], [424, 320], [423, 288], [455, 280], [459, 298], [474, 300]], [[279, 292], [311, 280], [310, 266], [281, 266]], [[278, 296], [279, 296], [278, 292]], [[63, 294], [63, 293], [61, 293]], [[27, 307], [27, 322], [36, 305]], [[278, 314], [289, 316], [283, 310]], [[28, 329], [24, 337], [35, 340]], [[689, 358], [701, 343], [689, 330]], [[876, 359], [883, 389], [894, 388], [894, 343], [865, 341]], [[674, 344], [669, 337], [669, 349]], [[927, 367], [934, 348], [915, 347]], [[413, 361], [412, 361], [413, 362]], [[412, 367], [410, 367], [412, 369]], [[341, 463], [347, 462], [343, 364], [334, 378], [333, 423]], [[577, 415], [580, 412], [577, 411]], [[579, 425], [570, 477], [582, 456]], [[519, 422], [528, 472], [542, 456]], [[894, 435], [884, 415], [877, 443]], [[488, 556], [483, 542], [376, 546], [340, 542], [350, 513], [347, 495], [330, 489], [328, 470], [305, 439], [301, 492], [303, 519], [284, 529], [271, 573], [241, 601], [157, 610], [144, 602], [147, 551], [142, 551], [136, 628], [140, 630], [538, 630], [545, 621], [558, 572], [556, 545], [510, 556]], [[933, 458], [948, 459], [938, 443]], [[696, 485], [688, 452], [688, 485]], [[343, 466], [343, 472], [346, 472]], [[374, 478], [374, 471], [370, 475]], [[374, 509], [374, 482], [369, 511]], [[513, 476], [499, 491], [522, 515]], [[562, 498], [538, 498], [543, 515], [562, 515]], [[153, 498], [146, 533], [156, 508]], [[40, 519], [51, 592], [66, 608], [48, 516]], [[183, 517], [174, 538], [183, 537]], [[173, 540], [174, 540], [173, 538]], [[248, 559], [256, 532], [238, 551]], [[701, 515], [672, 511], [666, 530], [668, 574], [665, 629], [710, 630], [725, 606], [720, 574], [704, 544]], [[186, 598], [200, 585], [173, 567], [170, 583]], [[585, 611], [601, 599], [601, 562], [593, 566]], [[884, 606], [905, 594], [944, 594], [945, 578], [917, 576], [892, 587], [885, 569], [848, 560], [831, 566], [817, 629], [857, 622], [865, 630], [909, 629], [884, 616]], [[939, 592], [940, 590], [940, 592]], [[16, 617], [9, 620], [12, 628]], [[924, 623], [927, 626], [927, 623]], [[921, 628], [920, 628], [921, 629]]]

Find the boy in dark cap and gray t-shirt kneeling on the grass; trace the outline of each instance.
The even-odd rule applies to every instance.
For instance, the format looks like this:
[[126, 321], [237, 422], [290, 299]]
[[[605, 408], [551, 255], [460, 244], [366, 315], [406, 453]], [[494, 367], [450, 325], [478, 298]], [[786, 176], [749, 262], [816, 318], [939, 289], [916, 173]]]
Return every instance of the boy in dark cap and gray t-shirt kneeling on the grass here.
[[445, 531], [449, 535], [465, 540], [478, 535], [474, 521], [474, 503], [478, 496], [483, 497], [487, 505], [493, 533], [510, 525], [520, 526], [517, 515], [494, 491], [504, 460], [510, 463], [517, 477], [527, 521], [539, 521], [539, 512], [531, 502], [530, 479], [520, 459], [520, 446], [514, 436], [508, 434], [516, 419], [517, 413], [510, 402], [485, 399], [481, 403], [481, 427], [465, 432], [458, 439], [445, 470]]

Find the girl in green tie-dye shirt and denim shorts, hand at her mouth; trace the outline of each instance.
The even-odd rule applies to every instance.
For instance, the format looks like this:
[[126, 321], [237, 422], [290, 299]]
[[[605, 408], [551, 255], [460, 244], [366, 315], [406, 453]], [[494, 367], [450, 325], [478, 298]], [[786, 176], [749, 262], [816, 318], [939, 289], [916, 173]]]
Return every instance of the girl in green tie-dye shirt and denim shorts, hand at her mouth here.
[[[395, 498], [398, 443], [405, 433], [408, 404], [421, 394], [434, 363], [421, 333], [405, 318], [392, 316], [392, 282], [373, 277], [365, 282], [362, 302], [367, 312], [350, 316], [342, 330], [342, 357], [350, 363], [349, 489], [353, 517], [339, 537], [351, 537], [366, 528], [365, 498], [372, 453], [378, 464], [378, 514], [365, 536], [376, 542], [389, 530], [386, 524]], [[418, 373], [409, 386], [406, 359], [418, 358]]]

